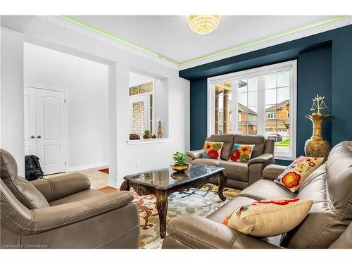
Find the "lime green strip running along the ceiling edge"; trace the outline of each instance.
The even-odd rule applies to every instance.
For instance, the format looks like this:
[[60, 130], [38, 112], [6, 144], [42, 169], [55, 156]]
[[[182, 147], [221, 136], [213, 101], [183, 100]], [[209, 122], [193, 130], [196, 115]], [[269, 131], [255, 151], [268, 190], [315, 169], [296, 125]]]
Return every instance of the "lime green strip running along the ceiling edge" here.
[[194, 63], [196, 61], [201, 61], [203, 59], [206, 59], [206, 58], [211, 58], [211, 57], [214, 57], [214, 56], [219, 56], [219, 55], [222, 55], [222, 54], [226, 54], [228, 52], [231, 52], [231, 51], [237, 51], [238, 49], [243, 49], [243, 48], [246, 48], [247, 46], [252, 46], [252, 45], [255, 45], [255, 44], [260, 44], [260, 43], [263, 43], [263, 42], [268, 42], [272, 39], [277, 39], [279, 37], [284, 37], [284, 36], [287, 36], [289, 34], [294, 34], [294, 33], [297, 33], [297, 32], [301, 32], [303, 30], [308, 30], [310, 28], [313, 28], [313, 27], [318, 27], [320, 25], [325, 25], [327, 23], [332, 23], [334, 21], [337, 21], [337, 20], [341, 20], [341, 19], [344, 19], [344, 18], [348, 18], [349, 15], [339, 15], [339, 16], [336, 16], [334, 18], [330, 18], [328, 20], [322, 20], [320, 22], [317, 22], [317, 23], [312, 23], [312, 24], [309, 24], [309, 25], [305, 25], [303, 27], [298, 27], [294, 30], [289, 30], [289, 31], [286, 31], [286, 32], [282, 32], [282, 33], [279, 33], [279, 34], [274, 34], [274, 35], [271, 35], [269, 37], [263, 37], [261, 39], [256, 39], [254, 40], [253, 42], [246, 42], [244, 44], [239, 44], [237, 46], [232, 46], [230, 48], [227, 48], [227, 49], [222, 49], [220, 51], [216, 51], [212, 54], [207, 54], [205, 56], [200, 56], [200, 57], [196, 57], [196, 58], [191, 58], [190, 60], [187, 60], [187, 61], [176, 61], [172, 58], [169, 58], [168, 56], [163, 56], [161, 54], [158, 54], [156, 51], [151, 51], [150, 49], [146, 49], [144, 46], [139, 46], [137, 44], [134, 44], [132, 42], [129, 42], [128, 40], [126, 39], [123, 39], [122, 37], [117, 37], [111, 33], [108, 33], [106, 31], [103, 31], [97, 27], [94, 27], [92, 25], [89, 25], [87, 23], [83, 23], [75, 18], [72, 18], [70, 17], [69, 15], [60, 15], [61, 18], [65, 19], [65, 20], [68, 20], [72, 23], [75, 23], [77, 25], [80, 25], [82, 27], [85, 27], [89, 30], [92, 30], [96, 33], [99, 33], [99, 34], [102, 34], [103, 36], [106, 36], [106, 37], [109, 37], [111, 39], [115, 39], [116, 41], [118, 42], [121, 42], [123, 44], [126, 44], [127, 46], [132, 46], [134, 49], [138, 49], [139, 51], [144, 51], [146, 52], [147, 54], [151, 54], [153, 56], [156, 56], [158, 58], [162, 58], [163, 60], [165, 61], [169, 61], [170, 63], [174, 63], [176, 65], [186, 65], [188, 63]]

